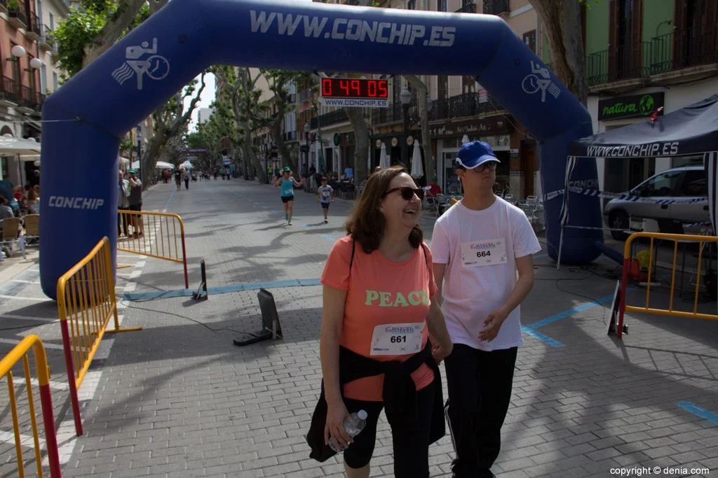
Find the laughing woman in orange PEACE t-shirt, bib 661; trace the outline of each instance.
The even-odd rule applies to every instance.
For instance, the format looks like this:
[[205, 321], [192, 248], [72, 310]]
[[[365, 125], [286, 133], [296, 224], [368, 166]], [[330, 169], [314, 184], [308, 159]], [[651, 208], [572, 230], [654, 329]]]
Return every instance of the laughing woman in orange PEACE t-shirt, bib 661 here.
[[[437, 358], [452, 351], [437, 302], [432, 254], [418, 226], [421, 194], [401, 166], [371, 176], [322, 274], [322, 392], [307, 440], [312, 458], [344, 450], [349, 478], [365, 478], [382, 409], [391, 425], [394, 477], [429, 477], [429, 444], [444, 436]], [[368, 418], [353, 438], [350, 413]]]

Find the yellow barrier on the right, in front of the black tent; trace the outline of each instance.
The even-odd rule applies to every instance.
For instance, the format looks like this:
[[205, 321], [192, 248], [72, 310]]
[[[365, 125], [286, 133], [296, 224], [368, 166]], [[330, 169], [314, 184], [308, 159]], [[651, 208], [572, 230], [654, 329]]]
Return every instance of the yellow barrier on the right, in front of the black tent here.
[[[629, 279], [629, 272], [633, 265], [633, 259], [631, 257], [630, 251], [631, 251], [631, 245], [633, 244], [633, 241], [635, 239], [638, 239], [639, 237], [648, 237], [651, 239], [651, 247], [650, 247], [650, 253], [648, 257], [648, 277], [646, 279], [646, 287], [645, 287], [645, 306], [644, 307], [635, 307], [633, 305], [626, 305], [626, 289], [628, 288], [628, 279]], [[672, 240], [673, 241], [673, 267], [671, 271], [671, 295], [668, 302], [668, 309], [658, 309], [656, 307], [650, 307], [650, 301], [649, 297], [651, 296], [651, 274], [653, 274], [653, 266], [655, 265], [655, 262], [653, 261], [653, 252], [655, 250], [654, 247], [654, 241], [655, 239], [660, 240]], [[693, 311], [692, 312], [685, 312], [682, 310], [674, 310], [673, 309], [673, 292], [676, 288], [676, 261], [678, 259], [678, 243], [679, 241], [684, 242], [697, 242], [698, 243], [698, 267], [696, 271], [696, 288], [694, 292], [694, 301], [693, 301]], [[714, 314], [704, 314], [701, 312], [698, 312], [698, 298], [699, 298], [699, 290], [700, 290], [700, 277], [701, 277], [701, 259], [703, 257], [703, 245], [704, 243], [717, 243], [718, 237], [716, 236], [691, 236], [686, 234], [662, 234], [659, 232], [635, 232], [634, 234], [631, 234], [628, 239], [626, 239], [625, 246], [623, 247], [623, 280], [621, 281], [621, 297], [620, 297], [620, 308], [618, 310], [618, 326], [616, 328], [616, 335], [618, 338], [621, 338], [621, 335], [623, 335], [623, 314], [624, 312], [644, 312], [648, 314], [658, 314], [658, 315], [673, 315], [676, 317], [691, 317], [696, 319], [708, 319], [708, 320], [718, 320], [718, 315]], [[635, 271], [638, 272], [638, 271]], [[683, 271], [681, 270], [681, 274], [683, 274]]]

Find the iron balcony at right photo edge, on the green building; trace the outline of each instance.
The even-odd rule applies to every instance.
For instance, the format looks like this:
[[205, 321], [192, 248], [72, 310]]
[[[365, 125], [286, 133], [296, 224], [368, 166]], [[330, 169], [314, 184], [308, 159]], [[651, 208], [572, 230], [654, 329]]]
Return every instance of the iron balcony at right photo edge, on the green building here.
[[718, 24], [675, 30], [651, 40], [651, 75], [718, 61]]

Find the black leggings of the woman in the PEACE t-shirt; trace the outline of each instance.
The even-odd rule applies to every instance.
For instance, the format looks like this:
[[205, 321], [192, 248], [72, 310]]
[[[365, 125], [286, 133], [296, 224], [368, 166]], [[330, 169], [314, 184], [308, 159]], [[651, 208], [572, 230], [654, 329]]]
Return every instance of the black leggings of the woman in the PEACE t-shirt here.
[[[394, 477], [396, 478], [429, 477], [429, 432], [434, 409], [434, 386], [437, 386], [436, 381], [416, 392], [416, 416], [419, 419], [416, 430], [411, 430], [408, 426], [391, 427]], [[365, 428], [354, 437], [354, 443], [344, 451], [344, 462], [347, 466], [361, 468], [370, 462], [374, 453], [376, 424], [379, 413], [384, 408], [384, 403], [345, 398], [344, 404], [350, 414], [360, 410], [364, 410], [368, 414]]]

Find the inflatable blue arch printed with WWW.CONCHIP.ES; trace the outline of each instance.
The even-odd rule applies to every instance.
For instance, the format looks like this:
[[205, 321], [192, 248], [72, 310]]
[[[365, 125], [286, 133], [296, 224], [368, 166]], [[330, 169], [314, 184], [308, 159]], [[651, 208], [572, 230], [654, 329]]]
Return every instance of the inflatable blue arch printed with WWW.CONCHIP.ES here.
[[[110, 238], [116, 257], [118, 145], [213, 64], [299, 71], [472, 75], [538, 141], [544, 193], [564, 187], [568, 143], [591, 135], [583, 105], [498, 16], [297, 1], [172, 0], [45, 102], [42, 290]], [[594, 160], [572, 180], [597, 184]], [[572, 199], [572, 225], [601, 226], [599, 200]], [[545, 205], [549, 255], [561, 199]], [[567, 229], [562, 260], [590, 262], [601, 231]]]

